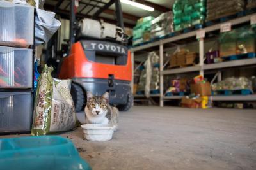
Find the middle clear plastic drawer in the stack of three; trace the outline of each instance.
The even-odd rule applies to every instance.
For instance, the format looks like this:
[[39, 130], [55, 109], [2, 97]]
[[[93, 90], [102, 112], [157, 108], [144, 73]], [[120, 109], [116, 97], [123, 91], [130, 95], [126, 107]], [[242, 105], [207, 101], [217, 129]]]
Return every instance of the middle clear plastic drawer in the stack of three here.
[[0, 88], [32, 87], [33, 51], [0, 46]]

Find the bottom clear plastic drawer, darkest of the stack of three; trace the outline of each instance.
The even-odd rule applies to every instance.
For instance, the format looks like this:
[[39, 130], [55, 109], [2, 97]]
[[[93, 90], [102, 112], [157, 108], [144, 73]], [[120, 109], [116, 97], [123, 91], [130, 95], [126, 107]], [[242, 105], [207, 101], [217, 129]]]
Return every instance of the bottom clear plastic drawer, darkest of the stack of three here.
[[30, 131], [32, 93], [0, 93], [0, 133]]

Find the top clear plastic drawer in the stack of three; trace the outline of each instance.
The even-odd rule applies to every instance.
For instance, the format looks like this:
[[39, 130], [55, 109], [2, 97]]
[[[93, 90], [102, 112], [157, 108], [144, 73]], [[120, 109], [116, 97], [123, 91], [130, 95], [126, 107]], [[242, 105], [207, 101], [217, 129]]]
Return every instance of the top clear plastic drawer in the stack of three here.
[[0, 1], [0, 45], [33, 45], [34, 8]]

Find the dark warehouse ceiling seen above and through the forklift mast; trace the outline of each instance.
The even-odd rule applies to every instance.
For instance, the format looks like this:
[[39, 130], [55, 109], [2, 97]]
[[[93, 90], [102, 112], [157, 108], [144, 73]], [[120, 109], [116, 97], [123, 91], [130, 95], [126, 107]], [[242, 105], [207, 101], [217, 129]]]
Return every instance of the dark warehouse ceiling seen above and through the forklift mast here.
[[[60, 0], [46, 0], [44, 4], [45, 10], [54, 11], [58, 1]], [[109, 1], [111, 0], [80, 0], [76, 16], [80, 18], [91, 18], [96, 13], [96, 11], [98, 11], [100, 8], [103, 8], [106, 4], [109, 3]], [[134, 25], [136, 25], [136, 20], [141, 17], [147, 17], [148, 15], [157, 17], [163, 12], [170, 11], [174, 1], [175, 0], [136, 0], [138, 3], [153, 7], [155, 10], [152, 12], [136, 8], [129, 4], [121, 3], [125, 27], [134, 27]], [[61, 15], [61, 17], [68, 19], [70, 0], [63, 0], [63, 2], [58, 7], [59, 10], [57, 13]], [[103, 10], [99, 17], [102, 18], [105, 22], [116, 24], [114, 13], [115, 4], [112, 4], [106, 10]]]

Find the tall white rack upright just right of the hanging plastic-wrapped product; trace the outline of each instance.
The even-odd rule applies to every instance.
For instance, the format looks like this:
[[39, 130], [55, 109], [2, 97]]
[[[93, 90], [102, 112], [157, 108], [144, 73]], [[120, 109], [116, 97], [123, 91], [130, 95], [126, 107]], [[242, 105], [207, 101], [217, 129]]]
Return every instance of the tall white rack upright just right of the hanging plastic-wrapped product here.
[[164, 106], [163, 96], [164, 96], [164, 75], [163, 69], [164, 69], [164, 45], [163, 41], [160, 40], [159, 45], [159, 55], [160, 55], [160, 107]]

